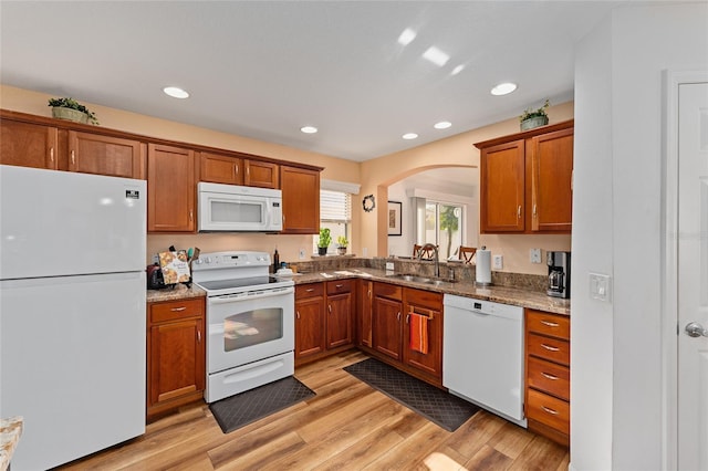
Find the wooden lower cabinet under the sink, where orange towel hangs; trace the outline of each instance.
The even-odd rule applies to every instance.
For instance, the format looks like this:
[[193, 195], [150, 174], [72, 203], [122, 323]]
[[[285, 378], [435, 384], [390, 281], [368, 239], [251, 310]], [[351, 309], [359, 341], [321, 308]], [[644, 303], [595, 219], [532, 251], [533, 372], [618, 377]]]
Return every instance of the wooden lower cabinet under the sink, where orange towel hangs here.
[[[372, 347], [377, 358], [442, 387], [442, 294], [389, 283], [374, 282], [372, 303]], [[412, 345], [412, 316], [425, 321], [428, 346], [420, 352]]]

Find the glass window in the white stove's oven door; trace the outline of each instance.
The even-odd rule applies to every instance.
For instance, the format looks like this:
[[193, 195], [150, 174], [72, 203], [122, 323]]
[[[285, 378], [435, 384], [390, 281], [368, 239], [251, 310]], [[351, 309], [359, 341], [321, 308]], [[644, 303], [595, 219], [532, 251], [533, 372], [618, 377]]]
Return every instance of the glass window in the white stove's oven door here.
[[283, 310], [247, 311], [223, 321], [223, 350], [231, 352], [283, 337]]

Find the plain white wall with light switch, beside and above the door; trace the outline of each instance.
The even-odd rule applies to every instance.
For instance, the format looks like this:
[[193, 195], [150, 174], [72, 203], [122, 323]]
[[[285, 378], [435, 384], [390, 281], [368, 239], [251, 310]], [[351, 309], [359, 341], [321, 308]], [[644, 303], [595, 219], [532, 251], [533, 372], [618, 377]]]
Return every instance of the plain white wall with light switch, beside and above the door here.
[[[571, 302], [576, 470], [665, 464], [662, 71], [708, 69], [707, 25], [705, 2], [622, 8], [577, 48]], [[590, 299], [590, 272], [613, 275], [611, 304]]]

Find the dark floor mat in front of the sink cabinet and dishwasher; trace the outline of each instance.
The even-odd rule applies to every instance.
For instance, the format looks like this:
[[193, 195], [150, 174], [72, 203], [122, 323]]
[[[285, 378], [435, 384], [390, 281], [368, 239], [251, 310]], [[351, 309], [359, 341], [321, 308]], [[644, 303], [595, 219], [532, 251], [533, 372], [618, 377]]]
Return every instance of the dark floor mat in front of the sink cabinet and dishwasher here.
[[375, 358], [347, 366], [344, 370], [448, 431], [455, 431], [479, 410], [473, 404]]

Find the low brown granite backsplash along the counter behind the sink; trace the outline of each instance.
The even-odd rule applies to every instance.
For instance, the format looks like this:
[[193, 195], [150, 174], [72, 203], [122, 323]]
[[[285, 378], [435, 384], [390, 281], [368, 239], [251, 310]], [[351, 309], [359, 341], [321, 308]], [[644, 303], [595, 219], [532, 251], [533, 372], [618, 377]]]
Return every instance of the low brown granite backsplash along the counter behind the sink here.
[[[291, 263], [301, 273], [327, 272], [333, 270], [346, 269], [374, 269], [386, 270], [386, 262], [394, 263], [395, 273], [406, 273], [423, 276], [435, 275], [435, 263], [428, 261], [404, 260], [404, 259], [384, 259], [375, 257], [373, 259], [364, 259], [352, 255], [344, 257], [322, 257], [313, 258], [309, 261], [299, 261]], [[452, 276], [450, 276], [452, 275]], [[475, 265], [462, 263], [440, 262], [440, 278], [454, 278], [457, 281], [473, 283], [476, 280]], [[491, 272], [491, 282], [497, 286], [518, 287], [528, 291], [538, 291], [545, 293], [548, 289], [548, 276], [510, 273], [510, 272]]]

